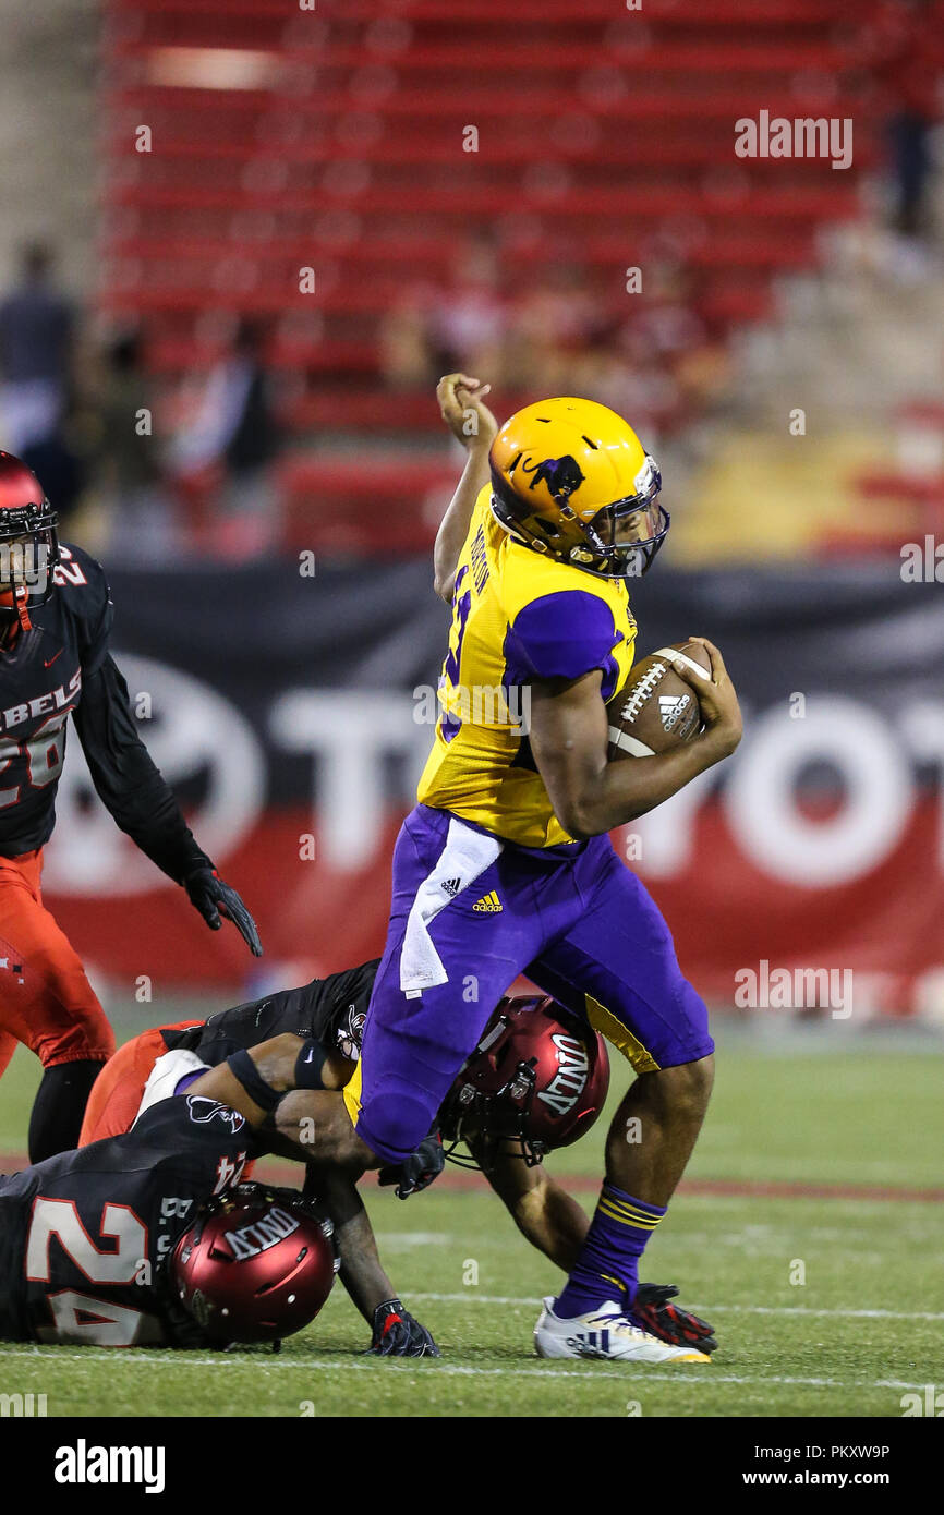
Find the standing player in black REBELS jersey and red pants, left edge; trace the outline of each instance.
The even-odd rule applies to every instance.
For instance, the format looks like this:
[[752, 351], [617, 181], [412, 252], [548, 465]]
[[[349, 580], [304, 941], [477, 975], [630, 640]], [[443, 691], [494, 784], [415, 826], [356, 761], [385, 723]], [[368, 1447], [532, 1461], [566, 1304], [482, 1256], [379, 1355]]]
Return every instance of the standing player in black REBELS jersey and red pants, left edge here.
[[115, 1050], [39, 888], [70, 715], [121, 830], [186, 889], [208, 926], [217, 930], [224, 915], [256, 956], [262, 951], [252, 915], [197, 845], [138, 736], [109, 653], [112, 615], [100, 564], [59, 544], [38, 479], [0, 453], [0, 1074], [17, 1041], [42, 1062], [29, 1129], [33, 1162], [76, 1145], [88, 1091]]

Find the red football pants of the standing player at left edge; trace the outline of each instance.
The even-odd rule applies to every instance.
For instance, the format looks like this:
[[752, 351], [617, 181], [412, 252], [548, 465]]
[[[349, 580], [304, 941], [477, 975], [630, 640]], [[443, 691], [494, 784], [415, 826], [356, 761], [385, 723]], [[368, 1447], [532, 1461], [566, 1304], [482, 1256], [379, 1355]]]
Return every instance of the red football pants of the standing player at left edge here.
[[17, 1042], [44, 1068], [105, 1062], [115, 1036], [39, 892], [42, 848], [0, 857], [0, 1074]]

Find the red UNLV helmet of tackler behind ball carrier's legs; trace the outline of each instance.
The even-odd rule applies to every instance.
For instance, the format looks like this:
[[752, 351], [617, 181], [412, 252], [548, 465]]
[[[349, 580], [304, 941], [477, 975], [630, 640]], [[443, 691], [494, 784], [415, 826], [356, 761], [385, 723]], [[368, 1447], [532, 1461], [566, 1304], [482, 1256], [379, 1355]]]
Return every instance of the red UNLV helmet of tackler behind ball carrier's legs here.
[[[588, 1132], [609, 1089], [606, 1042], [550, 995], [505, 997], [439, 1110], [442, 1138], [517, 1139], [529, 1167]], [[447, 1156], [461, 1167], [477, 1167]]]

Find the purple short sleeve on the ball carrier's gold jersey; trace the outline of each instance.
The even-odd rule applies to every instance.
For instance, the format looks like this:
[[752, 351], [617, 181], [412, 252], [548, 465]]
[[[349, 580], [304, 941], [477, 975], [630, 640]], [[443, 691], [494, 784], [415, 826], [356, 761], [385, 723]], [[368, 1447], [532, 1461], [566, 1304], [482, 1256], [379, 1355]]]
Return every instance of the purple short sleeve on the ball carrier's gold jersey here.
[[505, 638], [509, 685], [533, 679], [580, 679], [603, 671], [603, 698], [615, 688], [612, 650], [623, 639], [606, 600], [586, 589], [562, 589], [530, 600], [515, 615]]

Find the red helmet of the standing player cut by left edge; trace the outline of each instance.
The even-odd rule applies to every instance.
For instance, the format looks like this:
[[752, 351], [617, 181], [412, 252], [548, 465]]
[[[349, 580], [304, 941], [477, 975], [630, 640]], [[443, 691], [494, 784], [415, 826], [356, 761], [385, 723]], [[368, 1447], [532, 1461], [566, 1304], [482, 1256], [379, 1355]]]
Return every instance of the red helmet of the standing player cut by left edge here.
[[0, 624], [38, 611], [55, 589], [59, 518], [24, 462], [0, 451]]

